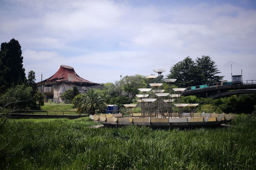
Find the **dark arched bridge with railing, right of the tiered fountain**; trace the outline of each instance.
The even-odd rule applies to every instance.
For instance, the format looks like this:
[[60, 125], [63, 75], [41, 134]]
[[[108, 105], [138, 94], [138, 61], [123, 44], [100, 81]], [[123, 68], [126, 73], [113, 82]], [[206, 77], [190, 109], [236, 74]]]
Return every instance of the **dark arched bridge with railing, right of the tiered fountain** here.
[[[248, 93], [256, 93], [256, 83], [255, 84], [232, 84], [232, 85], [216, 85], [205, 87], [205, 88], [198, 88], [198, 89], [188, 89], [183, 91], [181, 94], [183, 96], [191, 96], [191, 95], [198, 95], [198, 94], [206, 94], [206, 97], [212, 96], [212, 98], [220, 98], [235, 94], [248, 94]], [[252, 90], [255, 89], [255, 90]], [[231, 90], [231, 91], [229, 91]]]

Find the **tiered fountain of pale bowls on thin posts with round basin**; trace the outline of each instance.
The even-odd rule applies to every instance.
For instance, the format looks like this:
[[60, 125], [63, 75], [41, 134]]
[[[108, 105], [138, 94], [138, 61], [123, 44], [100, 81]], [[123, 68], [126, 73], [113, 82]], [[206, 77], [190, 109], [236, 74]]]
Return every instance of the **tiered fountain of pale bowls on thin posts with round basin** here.
[[[166, 69], [154, 69], [158, 76]], [[191, 126], [219, 126], [222, 123], [229, 122], [235, 118], [235, 115], [226, 114], [207, 114], [194, 113], [198, 104], [183, 104], [179, 100], [181, 93], [186, 88], [173, 88], [174, 93], [163, 93], [161, 89], [163, 83], [153, 83], [157, 75], [146, 76], [150, 81], [151, 88], [138, 89], [142, 94], [137, 94], [137, 102], [141, 105], [141, 113], [132, 113], [132, 108], [137, 104], [124, 105], [129, 109], [129, 116], [124, 117], [122, 114], [101, 114], [90, 115], [95, 122], [102, 123], [104, 126], [150, 126], [150, 127], [191, 127]], [[164, 79], [164, 82], [170, 84], [176, 79]], [[176, 98], [174, 100], [174, 98]], [[172, 104], [179, 109], [178, 113], [172, 112]], [[138, 105], [139, 106], [139, 105]], [[190, 113], [183, 113], [183, 108], [189, 107]]]

